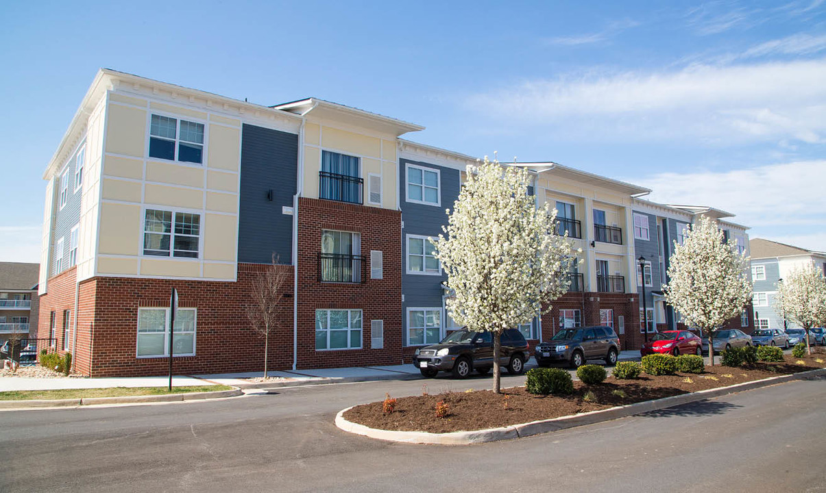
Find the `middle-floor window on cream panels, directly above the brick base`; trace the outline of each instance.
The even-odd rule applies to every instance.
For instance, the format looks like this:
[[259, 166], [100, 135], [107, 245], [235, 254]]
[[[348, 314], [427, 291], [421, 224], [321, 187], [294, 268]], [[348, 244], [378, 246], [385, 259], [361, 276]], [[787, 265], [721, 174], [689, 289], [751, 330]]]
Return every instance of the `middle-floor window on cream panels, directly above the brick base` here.
[[[174, 218], [174, 223], [173, 223]], [[198, 257], [201, 216], [169, 210], [146, 209], [144, 255]]]

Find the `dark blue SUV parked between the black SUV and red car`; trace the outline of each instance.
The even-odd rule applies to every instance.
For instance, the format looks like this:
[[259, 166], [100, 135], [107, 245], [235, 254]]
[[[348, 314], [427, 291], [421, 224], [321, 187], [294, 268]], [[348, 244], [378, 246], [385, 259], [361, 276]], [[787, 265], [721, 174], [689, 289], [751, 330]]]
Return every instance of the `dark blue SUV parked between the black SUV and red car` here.
[[588, 359], [605, 359], [606, 364], [616, 364], [618, 355], [619, 337], [607, 326], [563, 329], [550, 341], [534, 348], [536, 363], [543, 367], [564, 363], [579, 368]]

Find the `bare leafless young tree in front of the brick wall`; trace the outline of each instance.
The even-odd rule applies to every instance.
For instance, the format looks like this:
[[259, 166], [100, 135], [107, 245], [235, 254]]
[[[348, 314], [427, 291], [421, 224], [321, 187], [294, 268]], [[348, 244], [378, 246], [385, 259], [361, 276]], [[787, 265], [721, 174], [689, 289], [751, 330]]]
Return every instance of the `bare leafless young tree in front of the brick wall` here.
[[252, 282], [246, 314], [252, 330], [263, 337], [263, 378], [267, 378], [269, 335], [281, 328], [284, 322], [282, 301], [289, 280], [289, 273], [278, 265], [278, 256], [273, 254], [273, 263], [259, 272]]

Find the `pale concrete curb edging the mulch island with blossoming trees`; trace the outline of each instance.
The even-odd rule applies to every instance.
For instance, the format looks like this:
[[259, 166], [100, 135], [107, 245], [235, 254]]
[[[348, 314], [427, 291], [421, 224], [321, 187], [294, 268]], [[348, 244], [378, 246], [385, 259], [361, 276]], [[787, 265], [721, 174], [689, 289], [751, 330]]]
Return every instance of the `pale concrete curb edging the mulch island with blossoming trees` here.
[[406, 444], [479, 444], [483, 442], [495, 442], [498, 440], [509, 440], [524, 438], [534, 434], [544, 434], [557, 430], [565, 430], [575, 426], [593, 425], [602, 421], [616, 420], [627, 416], [634, 416], [658, 409], [665, 409], [672, 406], [680, 406], [689, 402], [703, 401], [713, 397], [720, 397], [734, 392], [743, 392], [755, 388], [768, 387], [778, 383], [792, 382], [808, 377], [826, 375], [826, 369], [810, 370], [808, 372], [771, 377], [753, 382], [738, 383], [729, 387], [711, 388], [679, 396], [664, 397], [655, 401], [637, 402], [627, 406], [611, 407], [600, 411], [585, 412], [572, 416], [562, 416], [551, 420], [532, 421], [520, 425], [510, 425], [502, 428], [490, 428], [487, 430], [474, 431], [454, 431], [451, 433], [428, 433], [425, 431], [392, 431], [377, 430], [368, 426], [358, 425], [344, 419], [344, 413], [354, 406], [339, 411], [335, 416], [335, 425], [341, 430], [349, 433], [361, 434], [373, 439], [388, 440], [392, 442], [402, 442]]

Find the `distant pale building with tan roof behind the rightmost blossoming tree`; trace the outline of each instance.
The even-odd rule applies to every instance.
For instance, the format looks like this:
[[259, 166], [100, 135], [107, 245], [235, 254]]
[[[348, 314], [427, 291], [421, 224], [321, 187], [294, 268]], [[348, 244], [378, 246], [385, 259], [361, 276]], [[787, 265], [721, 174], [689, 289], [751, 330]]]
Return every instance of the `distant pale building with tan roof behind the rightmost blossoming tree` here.
[[800, 328], [775, 309], [777, 284], [791, 270], [814, 264], [826, 276], [826, 252], [806, 250], [785, 243], [754, 238], [749, 242], [752, 255], [752, 294], [755, 326], [760, 329]]

